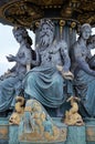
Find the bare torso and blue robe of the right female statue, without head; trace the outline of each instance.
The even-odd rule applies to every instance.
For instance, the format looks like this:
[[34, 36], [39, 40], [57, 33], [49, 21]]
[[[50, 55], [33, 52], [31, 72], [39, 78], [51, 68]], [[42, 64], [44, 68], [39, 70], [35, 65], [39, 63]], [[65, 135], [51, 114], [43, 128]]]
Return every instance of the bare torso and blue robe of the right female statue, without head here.
[[[82, 44], [78, 40], [71, 49], [72, 71], [74, 72], [74, 88], [75, 94], [81, 97], [83, 106], [91, 116], [95, 116], [95, 78], [83, 71], [85, 68], [84, 61], [87, 63], [87, 59], [91, 59], [91, 52], [86, 45]], [[78, 62], [82, 59], [81, 62]], [[84, 64], [84, 65], [83, 65]], [[82, 68], [82, 66], [84, 68]], [[81, 110], [81, 112], [83, 109]], [[83, 115], [85, 115], [83, 113]]]

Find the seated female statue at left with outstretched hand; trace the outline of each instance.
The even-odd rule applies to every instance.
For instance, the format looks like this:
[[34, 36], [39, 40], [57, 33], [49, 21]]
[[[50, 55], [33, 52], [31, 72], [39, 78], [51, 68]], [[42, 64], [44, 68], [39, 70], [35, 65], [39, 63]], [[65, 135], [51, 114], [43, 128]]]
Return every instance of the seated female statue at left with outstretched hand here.
[[17, 55], [7, 56], [9, 62], [15, 62], [15, 65], [0, 81], [0, 112], [9, 110], [12, 100], [19, 95], [22, 89], [22, 80], [27, 73], [27, 64], [32, 60], [32, 41], [24, 28], [14, 28], [13, 35], [20, 43]]

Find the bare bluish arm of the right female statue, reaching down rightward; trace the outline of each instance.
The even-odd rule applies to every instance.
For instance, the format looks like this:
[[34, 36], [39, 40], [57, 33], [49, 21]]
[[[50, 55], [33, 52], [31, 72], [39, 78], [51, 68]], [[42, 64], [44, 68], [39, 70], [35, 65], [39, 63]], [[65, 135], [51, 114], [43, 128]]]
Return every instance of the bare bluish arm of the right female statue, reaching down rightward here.
[[82, 52], [77, 45], [74, 48], [74, 56], [75, 56], [75, 61], [78, 64], [80, 69], [82, 69], [86, 73], [95, 76], [95, 71], [93, 71], [89, 68], [88, 63], [85, 60], [85, 56], [82, 55]]

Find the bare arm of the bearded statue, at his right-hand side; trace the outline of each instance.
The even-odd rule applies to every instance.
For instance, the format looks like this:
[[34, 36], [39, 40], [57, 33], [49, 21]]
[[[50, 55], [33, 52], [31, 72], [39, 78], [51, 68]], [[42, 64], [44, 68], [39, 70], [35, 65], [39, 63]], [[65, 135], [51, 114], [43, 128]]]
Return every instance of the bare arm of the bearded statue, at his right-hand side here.
[[71, 59], [68, 56], [67, 44], [65, 42], [61, 42], [61, 55], [64, 60], [64, 71], [68, 71], [71, 66]]

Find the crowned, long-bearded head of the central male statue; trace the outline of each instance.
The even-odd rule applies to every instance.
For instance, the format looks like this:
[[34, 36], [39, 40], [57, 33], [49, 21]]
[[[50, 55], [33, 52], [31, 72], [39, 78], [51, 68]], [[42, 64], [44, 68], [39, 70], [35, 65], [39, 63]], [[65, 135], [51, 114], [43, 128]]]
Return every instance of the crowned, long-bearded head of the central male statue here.
[[54, 40], [54, 23], [49, 19], [40, 22], [40, 45], [49, 47]]

